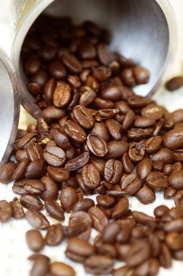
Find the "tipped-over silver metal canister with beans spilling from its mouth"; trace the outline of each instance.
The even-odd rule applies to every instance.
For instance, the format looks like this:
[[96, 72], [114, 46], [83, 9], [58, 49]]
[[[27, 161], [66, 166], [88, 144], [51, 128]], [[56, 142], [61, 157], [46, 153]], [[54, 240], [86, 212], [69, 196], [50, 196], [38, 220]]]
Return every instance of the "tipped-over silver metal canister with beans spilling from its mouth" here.
[[[70, 15], [76, 24], [89, 19], [108, 28], [113, 35], [111, 48], [127, 58], [134, 59], [136, 63], [150, 71], [149, 83], [136, 86], [133, 89], [136, 94], [151, 95], [165, 81], [170, 71], [176, 52], [177, 28], [175, 15], [168, 0], [11, 1], [12, 50], [10, 59], [18, 79], [18, 81], [16, 78], [13, 79], [12, 86], [14, 87], [17, 82], [19, 83], [21, 104], [35, 118], [42, 116], [42, 111], [34, 103], [34, 97], [26, 87], [28, 79], [23, 72], [20, 51], [29, 28], [43, 11], [53, 16]], [[1, 95], [1, 97], [9, 99], [8, 94]], [[13, 119], [9, 118], [9, 110], [4, 110], [4, 113], [2, 110], [0, 111], [2, 113], [0, 116], [7, 117], [5, 132], [7, 129], [9, 134], [15, 117], [17, 122], [13, 121], [13, 127], [17, 127], [18, 124], [18, 100], [16, 107], [17, 115], [14, 114]], [[15, 104], [14, 107], [12, 104], [12, 108], [15, 108]], [[1, 140], [5, 135], [3, 133], [0, 135], [2, 135], [2, 137], [0, 136], [0, 144], [2, 145]], [[11, 137], [14, 136], [15, 131], [11, 134]], [[8, 134], [6, 141], [7, 137]], [[5, 152], [6, 141], [3, 144], [2, 152]], [[6, 158], [3, 160], [7, 160], [9, 153], [10, 150], [7, 150]], [[2, 154], [0, 155], [1, 159]]]

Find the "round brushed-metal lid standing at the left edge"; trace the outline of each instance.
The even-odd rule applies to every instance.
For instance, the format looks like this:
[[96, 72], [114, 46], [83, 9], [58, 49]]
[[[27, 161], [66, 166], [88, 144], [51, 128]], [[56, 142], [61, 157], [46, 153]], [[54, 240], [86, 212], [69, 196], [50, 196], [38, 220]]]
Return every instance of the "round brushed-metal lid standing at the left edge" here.
[[9, 159], [17, 135], [20, 89], [9, 57], [0, 48], [0, 169]]

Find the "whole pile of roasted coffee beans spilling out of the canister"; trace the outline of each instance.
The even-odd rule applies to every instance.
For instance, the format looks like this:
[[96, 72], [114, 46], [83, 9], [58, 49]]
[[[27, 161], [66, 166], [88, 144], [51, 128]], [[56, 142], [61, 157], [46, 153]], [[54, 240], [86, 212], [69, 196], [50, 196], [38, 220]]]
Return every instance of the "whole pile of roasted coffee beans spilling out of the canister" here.
[[[43, 117], [18, 130], [17, 162], [0, 171], [0, 181], [13, 179], [20, 195], [0, 201], [0, 221], [25, 217], [46, 229], [44, 238], [38, 230], [26, 233], [36, 253], [29, 257], [31, 276], [75, 275], [37, 254], [64, 239], [67, 258], [94, 275], [153, 276], [172, 258], [183, 260], [183, 110], [169, 113], [135, 95], [131, 88], [147, 83], [149, 72], [112, 52], [110, 38], [93, 22], [74, 26], [67, 17], [43, 16], [22, 47], [28, 89]], [[174, 197], [176, 207], [159, 206], [155, 217], [129, 209], [128, 195], [149, 204], [154, 190]], [[43, 208], [57, 224], [50, 225]], [[67, 226], [60, 223], [65, 212]], [[100, 232], [93, 243], [91, 228]], [[126, 266], [113, 270], [114, 259]]]

